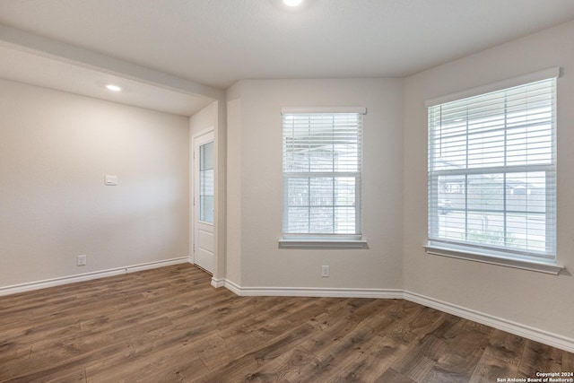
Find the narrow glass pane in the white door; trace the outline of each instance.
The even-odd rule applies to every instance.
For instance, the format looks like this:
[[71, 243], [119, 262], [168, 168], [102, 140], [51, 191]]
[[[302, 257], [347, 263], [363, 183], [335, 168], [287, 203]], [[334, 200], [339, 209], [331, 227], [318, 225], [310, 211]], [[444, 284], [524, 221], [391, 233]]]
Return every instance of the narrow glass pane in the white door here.
[[199, 220], [213, 223], [213, 142], [199, 147]]

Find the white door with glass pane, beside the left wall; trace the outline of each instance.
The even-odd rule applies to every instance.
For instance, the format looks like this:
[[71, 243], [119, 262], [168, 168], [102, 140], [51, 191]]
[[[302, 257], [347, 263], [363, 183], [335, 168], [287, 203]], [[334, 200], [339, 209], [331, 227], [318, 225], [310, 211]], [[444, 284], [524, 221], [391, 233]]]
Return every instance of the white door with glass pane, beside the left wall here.
[[194, 263], [213, 274], [213, 131], [194, 137]]

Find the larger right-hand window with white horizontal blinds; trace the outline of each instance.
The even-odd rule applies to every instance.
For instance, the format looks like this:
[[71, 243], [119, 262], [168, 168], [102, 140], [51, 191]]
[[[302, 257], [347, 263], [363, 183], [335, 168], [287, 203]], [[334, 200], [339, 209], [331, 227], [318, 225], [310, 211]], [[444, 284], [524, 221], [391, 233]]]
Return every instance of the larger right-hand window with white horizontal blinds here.
[[429, 107], [427, 251], [555, 264], [555, 94], [552, 76]]

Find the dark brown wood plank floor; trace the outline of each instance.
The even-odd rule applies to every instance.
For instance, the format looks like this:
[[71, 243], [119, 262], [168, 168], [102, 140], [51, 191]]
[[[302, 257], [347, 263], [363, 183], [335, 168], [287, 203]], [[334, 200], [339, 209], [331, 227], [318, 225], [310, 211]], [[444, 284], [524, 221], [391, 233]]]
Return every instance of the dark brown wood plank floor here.
[[0, 297], [0, 381], [496, 382], [574, 354], [406, 300], [238, 297], [192, 265]]

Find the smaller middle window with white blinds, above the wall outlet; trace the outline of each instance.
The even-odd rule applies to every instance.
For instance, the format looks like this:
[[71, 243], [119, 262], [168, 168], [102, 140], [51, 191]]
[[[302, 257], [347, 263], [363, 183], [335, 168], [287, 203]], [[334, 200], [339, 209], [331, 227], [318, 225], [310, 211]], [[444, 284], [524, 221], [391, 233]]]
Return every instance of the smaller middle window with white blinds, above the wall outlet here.
[[283, 110], [283, 239], [361, 239], [362, 113]]

